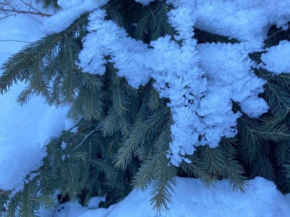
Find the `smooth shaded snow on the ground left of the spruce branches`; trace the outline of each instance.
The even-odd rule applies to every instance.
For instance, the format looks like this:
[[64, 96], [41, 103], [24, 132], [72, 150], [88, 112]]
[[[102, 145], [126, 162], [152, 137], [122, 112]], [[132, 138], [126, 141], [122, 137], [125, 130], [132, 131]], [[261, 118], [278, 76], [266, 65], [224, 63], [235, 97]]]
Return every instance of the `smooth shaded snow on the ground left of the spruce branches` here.
[[[9, 2], [13, 7], [28, 10], [19, 0]], [[38, 10], [44, 11], [42, 5], [33, 2], [32, 4]], [[5, 8], [11, 9], [9, 6]], [[4, 14], [0, 15], [3, 16]], [[46, 17], [39, 15], [31, 17], [25, 14], [0, 19], [0, 40], [33, 42], [44, 36], [39, 32], [39, 28], [42, 26], [40, 22], [45, 19]], [[0, 41], [0, 63], [26, 44]], [[39, 168], [42, 158], [46, 155], [42, 149], [44, 141], [72, 127], [72, 123], [65, 120], [67, 108], [49, 107], [41, 97], [32, 98], [23, 107], [15, 103], [17, 95], [24, 87], [25, 84], [19, 83], [13, 85], [6, 94], [0, 95], [0, 188], [15, 188], [15, 192], [22, 189], [26, 175]]]

